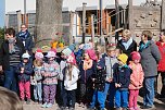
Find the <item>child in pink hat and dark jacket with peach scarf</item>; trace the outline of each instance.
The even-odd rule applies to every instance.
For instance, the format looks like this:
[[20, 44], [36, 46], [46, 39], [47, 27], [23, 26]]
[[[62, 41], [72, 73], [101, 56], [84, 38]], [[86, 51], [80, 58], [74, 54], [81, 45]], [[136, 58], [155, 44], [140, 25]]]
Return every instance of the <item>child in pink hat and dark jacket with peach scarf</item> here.
[[80, 106], [85, 108], [91, 100], [92, 76], [97, 73], [97, 57], [93, 49], [86, 50], [84, 60], [79, 65], [80, 70]]

